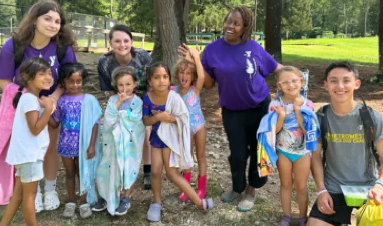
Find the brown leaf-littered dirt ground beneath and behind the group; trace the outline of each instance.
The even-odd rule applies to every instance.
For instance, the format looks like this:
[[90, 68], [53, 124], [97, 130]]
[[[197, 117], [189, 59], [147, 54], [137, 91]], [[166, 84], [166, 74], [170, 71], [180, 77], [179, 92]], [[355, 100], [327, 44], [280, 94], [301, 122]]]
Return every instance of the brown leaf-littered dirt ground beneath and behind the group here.
[[[78, 60], [86, 65], [92, 77], [87, 84], [86, 89], [89, 93], [96, 95], [105, 106], [105, 96], [98, 91], [97, 82], [97, 59], [98, 55], [94, 54], [77, 54]], [[310, 70], [310, 84], [308, 98], [315, 102], [316, 108], [323, 103], [329, 101], [327, 92], [323, 89], [323, 75], [328, 63], [297, 63], [284, 62], [284, 64], [292, 64], [300, 69]], [[358, 66], [360, 78], [363, 85], [357, 91], [356, 96], [364, 95], [368, 105], [382, 112], [383, 93], [381, 86], [369, 85], [367, 81], [377, 71], [376, 65]], [[271, 93], [274, 96], [276, 91], [275, 81], [269, 78], [267, 81], [270, 86]], [[270, 176], [268, 183], [261, 189], [257, 190], [258, 199], [253, 210], [248, 213], [240, 213], [236, 210], [239, 200], [233, 203], [222, 203], [220, 195], [227, 189], [230, 189], [230, 170], [227, 162], [229, 155], [228, 142], [222, 125], [221, 108], [218, 105], [217, 86], [210, 90], [203, 90], [201, 93], [201, 104], [204, 115], [206, 117], [207, 136], [207, 159], [208, 159], [208, 194], [213, 198], [214, 209], [209, 212], [202, 212], [189, 202], [181, 203], [177, 200], [179, 191], [165, 175], [163, 175], [162, 183], [162, 218], [159, 223], [149, 223], [146, 220], [146, 212], [152, 201], [151, 191], [142, 189], [142, 176], [135, 185], [132, 195], [132, 207], [128, 214], [123, 217], [112, 217], [106, 212], [93, 214], [87, 220], [65, 219], [62, 217], [64, 203], [67, 200], [65, 191], [64, 169], [60, 168], [58, 177], [58, 193], [62, 200], [61, 207], [54, 212], [43, 212], [38, 214], [37, 219], [39, 225], [276, 225], [280, 220], [282, 209], [279, 201], [279, 177], [276, 172]], [[195, 163], [192, 185], [197, 186], [197, 164]], [[315, 201], [315, 183], [312, 178], [308, 181], [310, 193], [309, 211]], [[293, 195], [292, 202], [293, 218], [298, 218], [298, 205]], [[4, 211], [4, 207], [0, 206], [0, 215]], [[21, 210], [13, 221], [12, 225], [23, 225]]]

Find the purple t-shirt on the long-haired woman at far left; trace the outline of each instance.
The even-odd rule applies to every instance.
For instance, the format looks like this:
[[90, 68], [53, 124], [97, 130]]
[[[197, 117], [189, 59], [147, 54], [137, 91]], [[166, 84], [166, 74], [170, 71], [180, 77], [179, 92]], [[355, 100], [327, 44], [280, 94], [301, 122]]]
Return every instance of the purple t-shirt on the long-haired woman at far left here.
[[[28, 58], [31, 57], [39, 57], [40, 54], [42, 56], [42, 59], [46, 60], [52, 70], [52, 77], [54, 79], [54, 85], [51, 87], [51, 89], [43, 90], [41, 91], [40, 95], [48, 96], [52, 94], [56, 88], [57, 88], [57, 72], [58, 72], [58, 59], [57, 59], [57, 45], [55, 42], [49, 42], [47, 46], [45, 46], [43, 49], [36, 49], [29, 45], [27, 49], [24, 51], [24, 57], [23, 61], [25, 61]], [[0, 51], [0, 79], [12, 79], [15, 83], [18, 83], [18, 76], [19, 76], [19, 70], [20, 66], [15, 70], [15, 61], [14, 59], [14, 53], [13, 53], [13, 42], [12, 38], [8, 39], [1, 51]], [[65, 57], [62, 59], [62, 63], [65, 62], [76, 62], [76, 56], [74, 55], [73, 48], [71, 46], [68, 46], [66, 50]]]

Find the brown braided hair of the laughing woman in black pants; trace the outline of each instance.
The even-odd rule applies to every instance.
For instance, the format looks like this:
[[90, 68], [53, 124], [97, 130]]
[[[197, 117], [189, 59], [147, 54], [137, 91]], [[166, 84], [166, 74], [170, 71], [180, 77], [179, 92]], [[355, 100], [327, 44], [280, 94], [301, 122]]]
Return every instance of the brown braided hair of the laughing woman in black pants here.
[[[253, 12], [244, 6], [238, 6], [233, 9], [225, 16], [224, 23], [227, 21], [229, 15], [233, 12], [238, 12], [241, 14], [243, 20], [243, 35], [242, 42], [245, 43], [251, 39], [251, 33], [254, 28], [254, 16]], [[224, 31], [225, 33], [225, 31]]]

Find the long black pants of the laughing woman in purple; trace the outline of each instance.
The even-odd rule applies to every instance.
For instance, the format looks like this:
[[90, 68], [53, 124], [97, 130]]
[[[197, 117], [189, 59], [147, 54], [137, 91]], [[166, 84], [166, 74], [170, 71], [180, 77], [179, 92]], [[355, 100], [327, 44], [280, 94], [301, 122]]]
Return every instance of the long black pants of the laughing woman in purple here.
[[248, 180], [249, 185], [260, 188], [267, 182], [267, 177], [259, 177], [257, 169], [257, 130], [268, 112], [268, 96], [256, 108], [232, 111], [222, 108], [222, 120], [229, 141], [228, 158], [233, 190], [242, 193], [246, 188], [246, 165], [250, 156]]

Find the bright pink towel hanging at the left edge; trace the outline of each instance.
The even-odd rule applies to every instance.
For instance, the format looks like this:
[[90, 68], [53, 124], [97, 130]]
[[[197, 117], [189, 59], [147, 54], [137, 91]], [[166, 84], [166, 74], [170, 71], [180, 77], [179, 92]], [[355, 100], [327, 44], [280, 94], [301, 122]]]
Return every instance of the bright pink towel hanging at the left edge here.
[[[12, 131], [15, 109], [12, 100], [19, 89], [19, 85], [9, 82], [5, 85], [0, 102], [0, 205], [7, 205], [12, 196], [14, 185], [14, 167], [5, 161], [8, 151], [9, 139]], [[23, 90], [25, 93], [25, 89]]]

